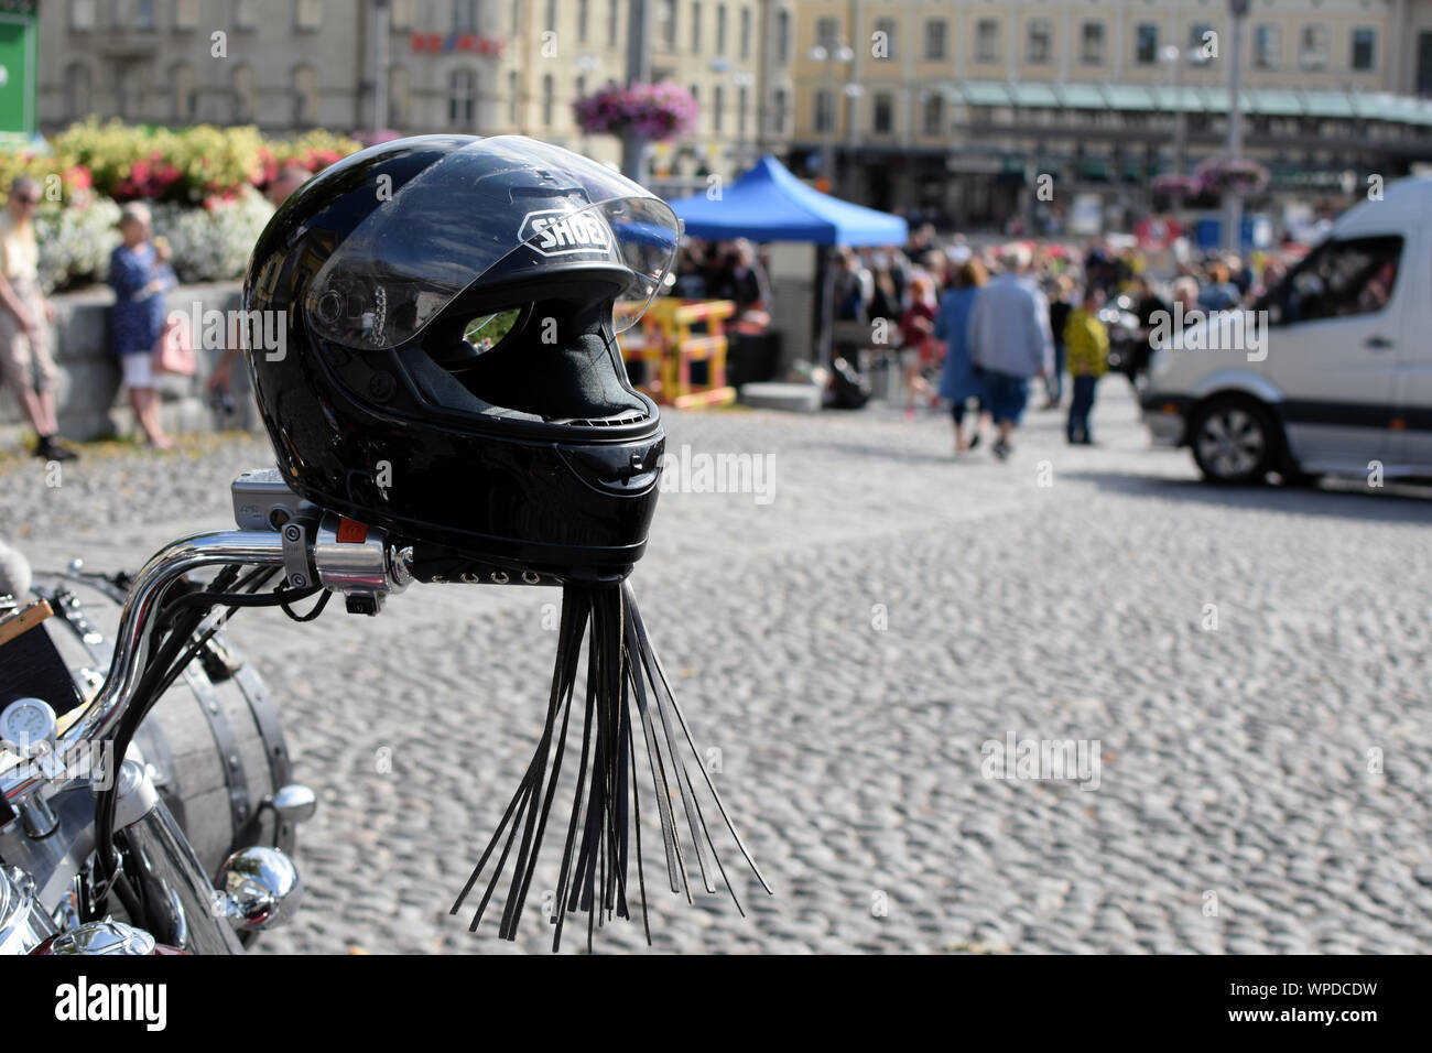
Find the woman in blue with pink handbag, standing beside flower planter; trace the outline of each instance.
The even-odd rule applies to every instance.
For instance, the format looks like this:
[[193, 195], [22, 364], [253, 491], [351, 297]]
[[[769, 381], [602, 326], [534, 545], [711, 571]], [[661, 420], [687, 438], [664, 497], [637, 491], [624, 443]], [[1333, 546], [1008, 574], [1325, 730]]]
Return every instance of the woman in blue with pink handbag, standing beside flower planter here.
[[165, 292], [175, 287], [169, 246], [152, 239], [149, 208], [130, 202], [119, 213], [123, 244], [109, 258], [109, 285], [115, 307], [109, 315], [110, 350], [119, 355], [129, 387], [129, 404], [149, 444], [173, 447], [159, 421], [159, 388], [155, 384], [155, 344], [165, 328]]

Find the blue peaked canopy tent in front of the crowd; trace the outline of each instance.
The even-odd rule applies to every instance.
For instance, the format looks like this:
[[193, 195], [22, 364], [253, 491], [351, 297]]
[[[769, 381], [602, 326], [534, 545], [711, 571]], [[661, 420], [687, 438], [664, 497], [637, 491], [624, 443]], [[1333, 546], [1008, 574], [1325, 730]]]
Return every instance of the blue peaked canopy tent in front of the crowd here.
[[[904, 245], [909, 226], [899, 216], [821, 193], [790, 175], [772, 155], [726, 188], [719, 198], [697, 193], [670, 202], [695, 238], [755, 242], [795, 241], [813, 245]], [[831, 360], [833, 274], [826, 255], [822, 264], [819, 358]]]

